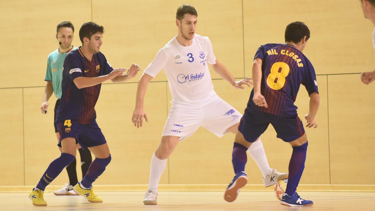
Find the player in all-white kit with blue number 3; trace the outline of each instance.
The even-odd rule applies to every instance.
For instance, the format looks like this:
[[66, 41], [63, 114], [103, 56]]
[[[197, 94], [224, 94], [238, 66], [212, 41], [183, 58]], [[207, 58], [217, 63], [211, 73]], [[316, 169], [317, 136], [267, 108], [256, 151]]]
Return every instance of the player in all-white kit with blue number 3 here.
[[[143, 200], [145, 205], [157, 204], [159, 180], [167, 158], [178, 141], [191, 136], [199, 126], [218, 137], [238, 131], [242, 115], [217, 96], [213, 90], [208, 64], [236, 89], [244, 89], [242, 85], [251, 85], [251, 78], [235, 81], [225, 66], [216, 59], [210, 39], [195, 34], [197, 16], [195, 8], [191, 5], [181, 5], [177, 8], [178, 35], [159, 50], [138, 83], [136, 105], [132, 115], [132, 122], [138, 128], [142, 127], [143, 118], [148, 122], [143, 109], [147, 84], [161, 69], [168, 78], [172, 94], [172, 106], [162, 140], [151, 158], [150, 181]], [[260, 140], [251, 145], [249, 154], [263, 173], [266, 187], [288, 177], [288, 173], [279, 173], [269, 167]]]

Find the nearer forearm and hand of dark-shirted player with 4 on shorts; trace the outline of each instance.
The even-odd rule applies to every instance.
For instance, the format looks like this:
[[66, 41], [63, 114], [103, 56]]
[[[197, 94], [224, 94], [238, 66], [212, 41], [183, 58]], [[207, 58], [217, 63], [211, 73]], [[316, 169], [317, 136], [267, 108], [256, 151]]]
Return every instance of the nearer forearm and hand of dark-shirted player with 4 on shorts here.
[[123, 75], [126, 71], [125, 68], [116, 68], [108, 75], [101, 75], [98, 77], [77, 77], [74, 78], [73, 82], [78, 89], [82, 89], [85, 87], [95, 86], [99, 83], [103, 83], [107, 80], [112, 80], [113, 78], [117, 77], [118, 75]]

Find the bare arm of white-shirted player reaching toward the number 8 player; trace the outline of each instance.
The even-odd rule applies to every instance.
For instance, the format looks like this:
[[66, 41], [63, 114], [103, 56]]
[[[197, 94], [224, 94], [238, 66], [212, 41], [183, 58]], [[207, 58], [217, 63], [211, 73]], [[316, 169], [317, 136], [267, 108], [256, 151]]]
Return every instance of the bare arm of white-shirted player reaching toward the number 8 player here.
[[251, 82], [252, 78], [245, 78], [243, 80], [236, 81], [233, 75], [226, 69], [223, 63], [219, 62], [217, 59], [216, 63], [211, 65], [213, 70], [220, 75], [224, 80], [228, 81], [236, 89], [245, 89], [242, 85], [247, 85], [250, 87], [253, 83]]

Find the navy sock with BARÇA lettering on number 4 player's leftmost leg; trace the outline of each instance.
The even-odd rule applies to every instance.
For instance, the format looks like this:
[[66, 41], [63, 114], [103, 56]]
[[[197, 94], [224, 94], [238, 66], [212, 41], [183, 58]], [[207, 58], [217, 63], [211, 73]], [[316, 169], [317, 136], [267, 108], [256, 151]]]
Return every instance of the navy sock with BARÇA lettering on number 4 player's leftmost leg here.
[[51, 183], [74, 159], [75, 157], [73, 155], [62, 153], [60, 157], [56, 158], [51, 164], [49, 164], [36, 187], [44, 191], [46, 186], [49, 185], [49, 183]]

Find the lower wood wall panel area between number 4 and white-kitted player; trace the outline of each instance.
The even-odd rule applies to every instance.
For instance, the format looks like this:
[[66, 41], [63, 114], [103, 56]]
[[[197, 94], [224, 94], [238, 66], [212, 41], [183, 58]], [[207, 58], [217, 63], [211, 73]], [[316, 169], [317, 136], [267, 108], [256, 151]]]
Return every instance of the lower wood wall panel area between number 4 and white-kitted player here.
[[[149, 122], [136, 128], [130, 121], [136, 83], [104, 84], [96, 105], [99, 127], [110, 147], [112, 161], [96, 184], [148, 184], [151, 157], [159, 146], [167, 117], [166, 82], [151, 82], [144, 109]], [[160, 184], [168, 184], [168, 166]]]

